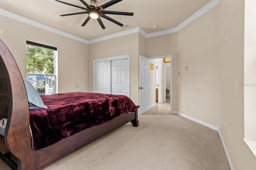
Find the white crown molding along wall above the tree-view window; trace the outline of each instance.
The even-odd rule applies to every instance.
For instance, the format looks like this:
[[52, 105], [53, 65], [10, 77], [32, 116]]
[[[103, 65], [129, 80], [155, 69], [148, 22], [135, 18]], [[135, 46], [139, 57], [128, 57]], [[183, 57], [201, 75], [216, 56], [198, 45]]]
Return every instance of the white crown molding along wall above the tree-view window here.
[[80, 37], [76, 37], [76, 36], [74, 36], [74, 35], [71, 35], [71, 34], [69, 34], [69, 33], [65, 33], [65, 32], [63, 32], [63, 31], [60, 31], [60, 30], [58, 30], [58, 29], [49, 27], [49, 26], [44, 25], [44, 24], [42, 24], [42, 23], [29, 20], [29, 19], [24, 18], [24, 17], [22, 17], [22, 16], [18, 16], [18, 15], [16, 15], [16, 14], [13, 14], [13, 13], [8, 12], [8, 11], [6, 11], [6, 10], [3, 10], [3, 9], [1, 9], [1, 8], [0, 8], [0, 15], [3, 15], [3, 16], [9, 17], [9, 18], [12, 18], [12, 19], [14, 19], [14, 20], [22, 21], [22, 22], [24, 22], [24, 23], [33, 25], [33, 26], [35, 26], [35, 27], [39, 27], [39, 28], [45, 29], [45, 30], [47, 30], [47, 31], [51, 31], [51, 32], [53, 32], [53, 33], [56, 33], [56, 34], [59, 34], [59, 35], [63, 35], [63, 36], [65, 36], [65, 37], [68, 37], [68, 38], [71, 38], [71, 39], [74, 39], [74, 40], [77, 40], [77, 41], [81, 41], [81, 42], [83, 42], [83, 43], [88, 44], [88, 40], [86, 40], [86, 39], [82, 39], [82, 38], [80, 38]]

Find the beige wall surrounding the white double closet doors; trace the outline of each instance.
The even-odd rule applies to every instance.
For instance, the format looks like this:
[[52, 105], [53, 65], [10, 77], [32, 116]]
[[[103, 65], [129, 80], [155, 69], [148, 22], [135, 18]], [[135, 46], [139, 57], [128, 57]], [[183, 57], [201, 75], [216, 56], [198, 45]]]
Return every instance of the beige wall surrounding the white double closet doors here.
[[[106, 57], [130, 55], [130, 98], [139, 104], [139, 34], [132, 33], [89, 44], [89, 90], [93, 92], [93, 60]], [[143, 39], [142, 39], [143, 42]], [[142, 44], [142, 43], [140, 43]]]

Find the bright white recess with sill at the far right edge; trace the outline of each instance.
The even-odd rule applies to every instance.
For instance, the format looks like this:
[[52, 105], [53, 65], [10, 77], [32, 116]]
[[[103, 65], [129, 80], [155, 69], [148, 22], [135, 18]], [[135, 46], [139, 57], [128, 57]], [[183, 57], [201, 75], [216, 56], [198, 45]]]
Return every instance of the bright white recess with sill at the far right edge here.
[[244, 8], [244, 141], [256, 156], [256, 2]]

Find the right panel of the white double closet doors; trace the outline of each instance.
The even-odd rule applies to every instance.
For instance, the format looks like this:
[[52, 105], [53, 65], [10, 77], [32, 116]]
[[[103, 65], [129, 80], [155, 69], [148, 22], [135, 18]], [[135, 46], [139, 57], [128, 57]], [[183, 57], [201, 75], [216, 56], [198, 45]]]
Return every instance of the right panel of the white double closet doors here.
[[130, 66], [128, 59], [111, 61], [112, 94], [130, 97]]

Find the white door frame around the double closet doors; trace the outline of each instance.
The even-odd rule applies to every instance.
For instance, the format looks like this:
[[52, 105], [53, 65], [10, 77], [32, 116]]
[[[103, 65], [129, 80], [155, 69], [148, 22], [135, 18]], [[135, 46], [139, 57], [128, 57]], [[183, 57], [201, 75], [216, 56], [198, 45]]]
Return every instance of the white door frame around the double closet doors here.
[[[120, 59], [128, 59], [128, 72], [129, 72], [129, 76], [128, 76], [128, 82], [130, 82], [130, 55], [120, 55], [120, 56], [116, 56], [116, 57], [106, 57], [106, 58], [102, 58], [102, 59], [94, 59], [93, 60], [93, 92], [95, 93], [95, 63], [96, 62], [102, 62], [102, 61], [112, 61], [112, 60], [120, 60]], [[112, 76], [112, 75], [111, 75]], [[111, 87], [112, 90], [112, 87]], [[131, 95], [131, 89], [129, 86], [129, 96]], [[112, 92], [111, 92], [112, 93]]]

